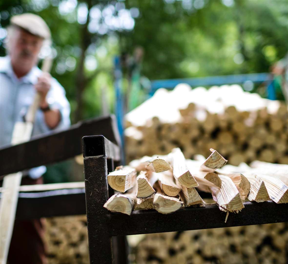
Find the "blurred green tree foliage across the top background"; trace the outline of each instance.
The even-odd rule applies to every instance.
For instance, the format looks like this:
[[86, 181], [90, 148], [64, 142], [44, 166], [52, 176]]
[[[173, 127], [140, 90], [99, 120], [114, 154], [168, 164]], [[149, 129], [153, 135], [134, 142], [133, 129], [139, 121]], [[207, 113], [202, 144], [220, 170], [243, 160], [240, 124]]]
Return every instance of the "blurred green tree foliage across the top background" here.
[[[51, 73], [65, 87], [73, 121], [77, 121], [74, 114], [81, 100], [81, 118], [101, 114], [103, 89], [113, 111], [113, 58], [121, 53], [132, 55], [138, 46], [144, 50], [141, 74], [151, 80], [268, 72], [288, 50], [287, 0], [232, 0], [228, 1], [230, 6], [220, 0], [72, 0], [75, 7], [71, 12], [60, 10], [64, 2], [2, 0], [0, 14], [2, 27], [9, 24], [11, 15], [22, 12], [33, 12], [46, 20], [56, 55]], [[132, 30], [91, 33], [87, 30], [89, 16], [86, 24], [77, 21], [77, 10], [83, 5], [90, 14], [95, 7], [103, 11], [112, 5], [114, 17], [121, 12], [119, 7], [137, 8], [139, 16], [134, 17]], [[99, 20], [103, 24], [104, 18]], [[5, 55], [2, 40], [0, 55]], [[91, 56], [96, 59], [96, 70], [89, 70], [85, 63], [81, 68], [82, 58]], [[80, 82], [82, 88], [81, 76], [85, 77]]]

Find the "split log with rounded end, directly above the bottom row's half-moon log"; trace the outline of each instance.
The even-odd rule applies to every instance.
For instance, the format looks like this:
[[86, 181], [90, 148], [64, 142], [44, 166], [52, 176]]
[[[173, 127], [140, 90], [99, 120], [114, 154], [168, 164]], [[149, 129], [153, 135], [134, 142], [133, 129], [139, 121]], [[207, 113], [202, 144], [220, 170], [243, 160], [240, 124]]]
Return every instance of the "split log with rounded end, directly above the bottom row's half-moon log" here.
[[157, 173], [158, 182], [161, 190], [168, 196], [177, 196], [180, 188], [173, 181], [173, 174], [171, 171]]

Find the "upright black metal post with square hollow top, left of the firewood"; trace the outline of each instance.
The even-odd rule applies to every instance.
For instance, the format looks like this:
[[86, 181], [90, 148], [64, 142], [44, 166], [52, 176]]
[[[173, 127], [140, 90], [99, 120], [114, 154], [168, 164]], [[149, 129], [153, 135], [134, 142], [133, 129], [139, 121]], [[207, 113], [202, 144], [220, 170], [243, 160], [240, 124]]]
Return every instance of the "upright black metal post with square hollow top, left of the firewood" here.
[[90, 263], [111, 264], [109, 213], [103, 205], [108, 200], [107, 157], [119, 156], [117, 146], [103, 136], [86, 136], [82, 141]]

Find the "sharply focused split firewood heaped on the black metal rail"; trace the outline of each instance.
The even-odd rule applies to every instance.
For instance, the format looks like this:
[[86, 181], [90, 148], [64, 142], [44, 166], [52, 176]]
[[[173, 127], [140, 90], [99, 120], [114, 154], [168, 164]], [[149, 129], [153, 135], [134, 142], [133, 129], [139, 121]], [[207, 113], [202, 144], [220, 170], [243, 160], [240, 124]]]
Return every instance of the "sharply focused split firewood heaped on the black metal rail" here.
[[[185, 160], [179, 148], [166, 156], [143, 157], [129, 166], [117, 167], [107, 176], [108, 184], [118, 192], [104, 207], [130, 215], [134, 209], [156, 209], [162, 214], [181, 207], [205, 206], [198, 190], [210, 192], [219, 209], [239, 212], [243, 201], [288, 203], [288, 165], [254, 161], [238, 167], [216, 150], [205, 160]], [[222, 168], [223, 167], [223, 168]], [[138, 176], [137, 176], [137, 173]], [[225, 220], [225, 222], [226, 222]]]

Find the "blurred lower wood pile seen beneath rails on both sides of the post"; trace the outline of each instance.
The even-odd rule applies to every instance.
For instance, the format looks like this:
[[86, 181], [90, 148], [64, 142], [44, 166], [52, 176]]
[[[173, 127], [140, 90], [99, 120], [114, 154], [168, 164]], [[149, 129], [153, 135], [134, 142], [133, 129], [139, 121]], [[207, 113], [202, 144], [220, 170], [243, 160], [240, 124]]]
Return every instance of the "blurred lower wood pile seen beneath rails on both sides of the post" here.
[[[287, 263], [288, 223], [127, 236], [131, 263]], [[46, 219], [48, 264], [88, 264], [86, 216]]]

